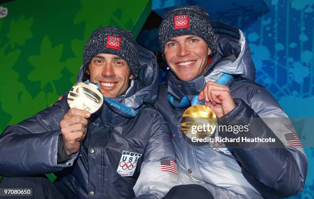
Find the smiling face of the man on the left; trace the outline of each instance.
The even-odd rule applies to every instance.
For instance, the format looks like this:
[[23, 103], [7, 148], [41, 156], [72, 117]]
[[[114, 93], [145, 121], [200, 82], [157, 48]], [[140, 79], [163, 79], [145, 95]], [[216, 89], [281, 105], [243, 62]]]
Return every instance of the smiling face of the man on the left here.
[[127, 62], [113, 54], [97, 54], [89, 64], [90, 82], [98, 83], [104, 97], [122, 95], [133, 78]]

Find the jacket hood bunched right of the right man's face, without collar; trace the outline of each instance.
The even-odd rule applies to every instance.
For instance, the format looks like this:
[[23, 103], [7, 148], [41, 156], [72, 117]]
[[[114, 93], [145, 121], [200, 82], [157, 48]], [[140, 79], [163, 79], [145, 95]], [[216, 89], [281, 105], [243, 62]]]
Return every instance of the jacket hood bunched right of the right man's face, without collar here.
[[[221, 22], [211, 22], [219, 35], [217, 53], [213, 55], [213, 69], [205, 75], [208, 81], [217, 81], [222, 73], [255, 81], [255, 66], [243, 32]], [[209, 66], [209, 68], [212, 68]], [[208, 82], [206, 81], [206, 82]]]

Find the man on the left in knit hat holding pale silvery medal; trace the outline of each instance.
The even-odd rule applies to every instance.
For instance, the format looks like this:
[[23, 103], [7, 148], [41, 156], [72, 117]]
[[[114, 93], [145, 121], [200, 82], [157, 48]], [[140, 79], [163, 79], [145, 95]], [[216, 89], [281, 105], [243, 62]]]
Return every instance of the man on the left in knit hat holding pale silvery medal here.
[[[167, 123], [152, 105], [157, 73], [154, 55], [131, 32], [95, 30], [77, 83], [99, 85], [100, 110], [70, 108], [66, 93], [8, 126], [0, 136], [0, 187], [32, 188], [33, 198], [163, 197], [180, 181]], [[53, 184], [42, 177], [52, 172]]]

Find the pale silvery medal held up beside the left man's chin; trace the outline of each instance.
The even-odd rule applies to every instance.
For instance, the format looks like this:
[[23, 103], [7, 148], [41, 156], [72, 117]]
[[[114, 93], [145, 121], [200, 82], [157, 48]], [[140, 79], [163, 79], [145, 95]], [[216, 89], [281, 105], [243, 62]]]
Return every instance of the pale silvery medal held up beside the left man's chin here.
[[68, 94], [68, 104], [71, 108], [96, 112], [103, 105], [103, 94], [99, 87], [90, 82], [75, 84]]

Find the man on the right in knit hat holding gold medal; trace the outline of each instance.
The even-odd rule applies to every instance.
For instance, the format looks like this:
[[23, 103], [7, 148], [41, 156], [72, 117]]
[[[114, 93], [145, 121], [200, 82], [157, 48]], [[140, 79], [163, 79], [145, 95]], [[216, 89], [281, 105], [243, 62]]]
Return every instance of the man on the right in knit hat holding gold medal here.
[[[279, 198], [302, 191], [307, 157], [287, 115], [254, 82], [242, 31], [210, 22], [199, 6], [177, 7], [164, 15], [159, 42], [171, 71], [156, 107], [169, 124], [184, 184], [175, 189], [198, 185], [214, 198]], [[217, 116], [216, 127], [231, 130], [217, 128], [198, 145], [182, 130], [182, 114], [202, 101]], [[247, 131], [239, 132], [240, 125]]]

